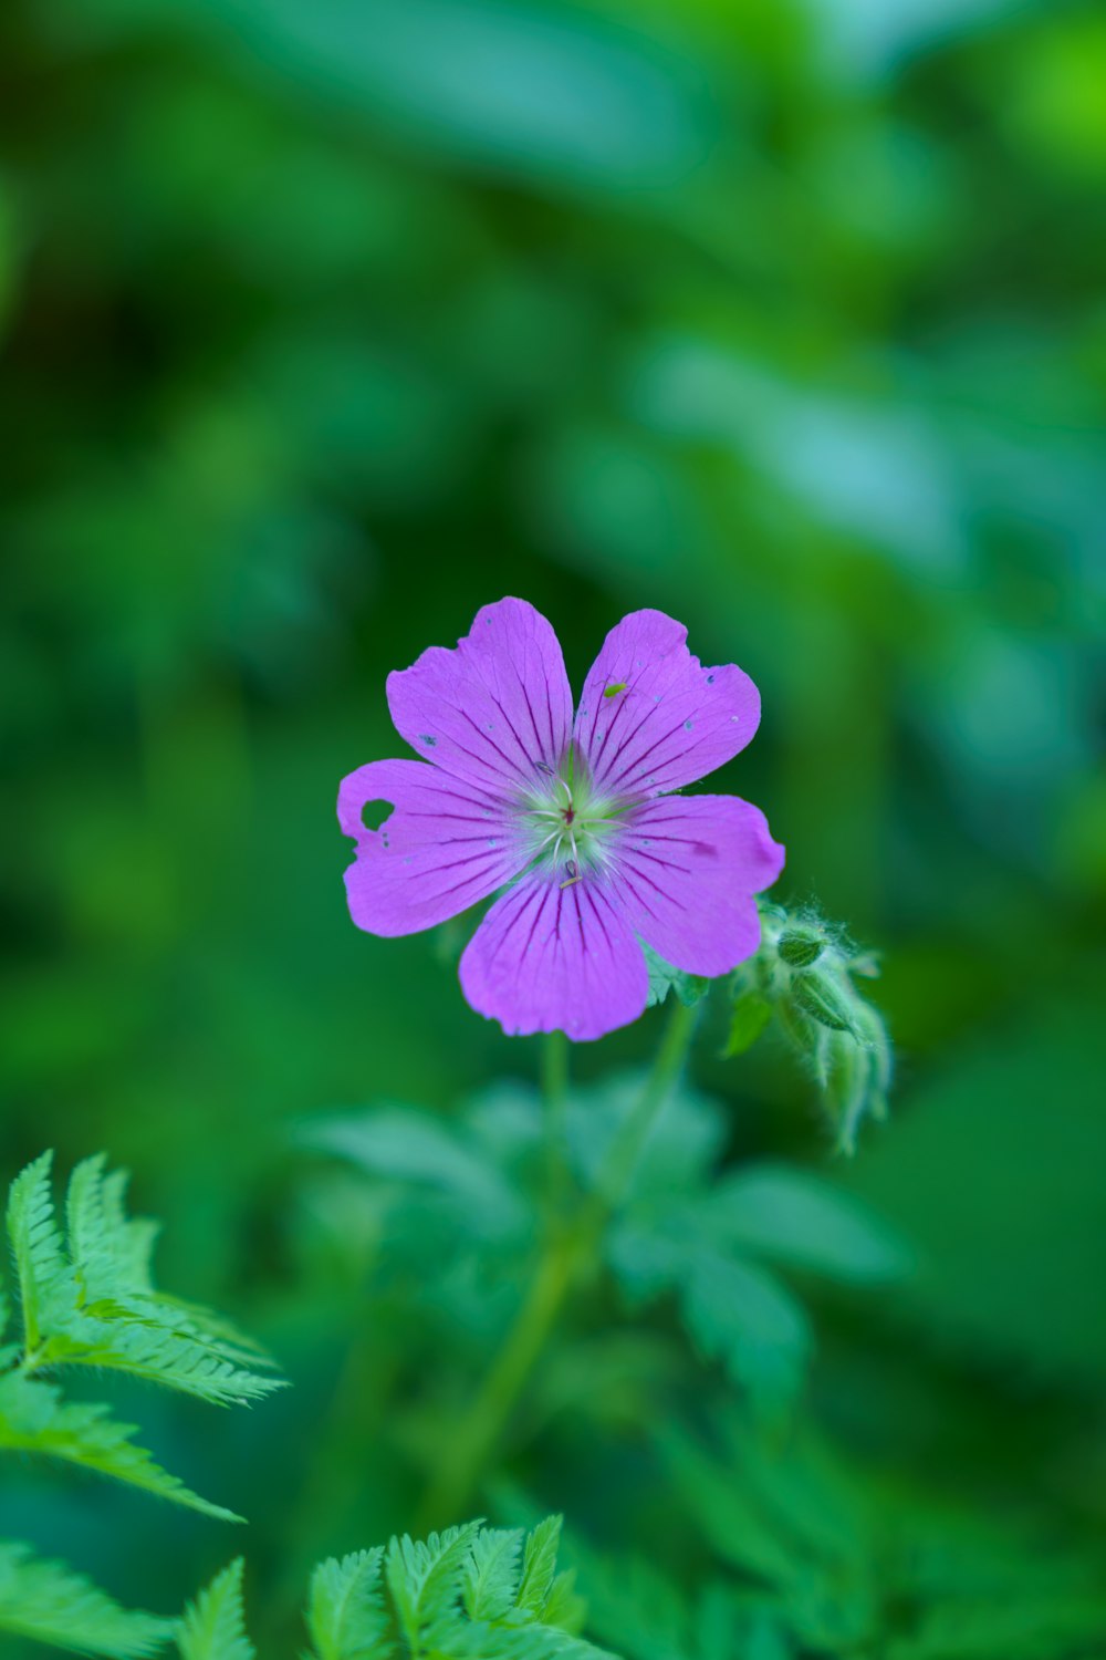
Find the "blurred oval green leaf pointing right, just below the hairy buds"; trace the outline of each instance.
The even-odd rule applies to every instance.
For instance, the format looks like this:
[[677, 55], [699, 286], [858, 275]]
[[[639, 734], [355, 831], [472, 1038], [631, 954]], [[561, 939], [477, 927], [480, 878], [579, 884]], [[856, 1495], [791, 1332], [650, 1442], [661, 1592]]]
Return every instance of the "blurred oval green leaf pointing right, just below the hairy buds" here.
[[808, 1170], [758, 1165], [723, 1177], [703, 1205], [713, 1238], [832, 1280], [880, 1285], [912, 1268], [912, 1253], [852, 1194]]

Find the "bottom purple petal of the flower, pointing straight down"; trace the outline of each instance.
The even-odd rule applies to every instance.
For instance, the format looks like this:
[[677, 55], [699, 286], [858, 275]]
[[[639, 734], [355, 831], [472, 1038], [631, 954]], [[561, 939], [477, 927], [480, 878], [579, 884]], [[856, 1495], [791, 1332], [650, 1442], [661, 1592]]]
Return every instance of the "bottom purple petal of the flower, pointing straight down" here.
[[602, 881], [560, 888], [534, 873], [502, 893], [473, 935], [461, 989], [509, 1036], [562, 1031], [584, 1042], [638, 1018], [648, 971]]

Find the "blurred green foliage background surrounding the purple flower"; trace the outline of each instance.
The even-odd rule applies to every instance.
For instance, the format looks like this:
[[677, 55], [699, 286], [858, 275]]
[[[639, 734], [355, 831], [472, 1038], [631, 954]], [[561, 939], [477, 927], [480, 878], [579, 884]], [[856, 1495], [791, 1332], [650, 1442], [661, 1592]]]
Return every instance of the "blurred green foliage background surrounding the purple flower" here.
[[[924, 1270], [831, 1300], [814, 1409], [894, 1479], [1101, 1526], [1101, 10], [0, 27], [3, 1162], [106, 1147], [164, 1283], [292, 1376], [245, 1429], [144, 1399], [174, 1467], [254, 1519], [270, 1585], [410, 1524], [448, 1345], [333, 1253], [289, 1129], [536, 1072], [456, 940], [357, 933], [333, 822], [340, 775], [403, 752], [386, 672], [516, 593], [577, 687], [647, 604], [743, 664], [764, 719], [718, 784], [788, 845], [779, 893], [885, 953], [895, 1111], [836, 1174]], [[735, 1155], [826, 1164], [783, 1056], [716, 1049]], [[623, 1545], [544, 1434], [531, 1491]], [[0, 1522], [158, 1607], [240, 1545], [30, 1467]]]

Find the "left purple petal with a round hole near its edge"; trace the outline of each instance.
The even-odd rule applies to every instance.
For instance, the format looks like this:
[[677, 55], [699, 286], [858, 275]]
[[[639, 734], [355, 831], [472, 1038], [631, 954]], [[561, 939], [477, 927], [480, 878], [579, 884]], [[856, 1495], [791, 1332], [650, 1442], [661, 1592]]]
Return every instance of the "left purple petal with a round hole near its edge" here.
[[[368, 802], [393, 812], [370, 830]], [[338, 823], [357, 842], [347, 868], [350, 916], [376, 935], [408, 935], [456, 916], [517, 876], [527, 850], [502, 807], [421, 760], [375, 760], [342, 780]]]

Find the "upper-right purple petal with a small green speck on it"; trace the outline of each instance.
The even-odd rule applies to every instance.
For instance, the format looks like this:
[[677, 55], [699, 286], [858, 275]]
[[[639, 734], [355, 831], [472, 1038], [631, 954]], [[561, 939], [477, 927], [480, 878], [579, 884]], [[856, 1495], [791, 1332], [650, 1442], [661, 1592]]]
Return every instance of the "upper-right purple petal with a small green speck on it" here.
[[663, 611], [612, 627], [584, 682], [575, 740], [599, 790], [660, 795], [731, 760], [756, 732], [759, 692], [733, 662], [705, 669]]

